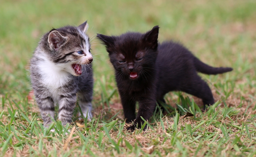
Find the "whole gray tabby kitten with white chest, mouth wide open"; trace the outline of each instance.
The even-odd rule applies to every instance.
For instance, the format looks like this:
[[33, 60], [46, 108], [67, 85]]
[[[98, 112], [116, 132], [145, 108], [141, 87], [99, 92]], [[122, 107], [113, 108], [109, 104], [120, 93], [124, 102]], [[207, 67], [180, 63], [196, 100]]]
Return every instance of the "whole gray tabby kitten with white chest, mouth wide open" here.
[[70, 123], [76, 96], [84, 116], [91, 119], [93, 75], [87, 29], [86, 21], [78, 27], [51, 30], [31, 58], [32, 87], [45, 127], [52, 123], [57, 103], [58, 119], [62, 125]]

